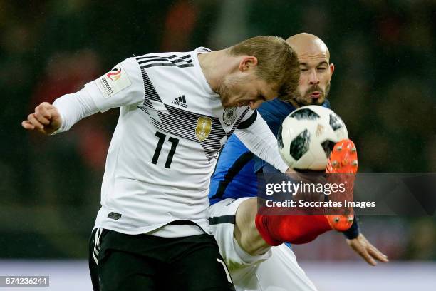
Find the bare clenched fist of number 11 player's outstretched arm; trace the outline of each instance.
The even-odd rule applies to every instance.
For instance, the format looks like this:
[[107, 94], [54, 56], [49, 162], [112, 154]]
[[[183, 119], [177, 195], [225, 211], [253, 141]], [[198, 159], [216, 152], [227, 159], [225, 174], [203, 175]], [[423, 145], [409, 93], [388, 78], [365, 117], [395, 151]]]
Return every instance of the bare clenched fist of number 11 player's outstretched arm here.
[[48, 102], [36, 106], [35, 112], [27, 116], [27, 120], [21, 126], [28, 131], [39, 131], [44, 134], [51, 134], [61, 127], [62, 120], [58, 109]]

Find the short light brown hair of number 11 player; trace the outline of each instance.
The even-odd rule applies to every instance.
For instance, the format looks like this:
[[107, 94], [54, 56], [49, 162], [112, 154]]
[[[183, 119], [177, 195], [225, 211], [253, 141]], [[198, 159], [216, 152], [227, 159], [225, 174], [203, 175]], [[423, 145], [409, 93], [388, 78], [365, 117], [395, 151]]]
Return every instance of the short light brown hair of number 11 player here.
[[296, 52], [279, 36], [256, 36], [227, 48], [231, 56], [255, 56], [256, 75], [274, 84], [281, 100], [289, 100], [300, 79]]

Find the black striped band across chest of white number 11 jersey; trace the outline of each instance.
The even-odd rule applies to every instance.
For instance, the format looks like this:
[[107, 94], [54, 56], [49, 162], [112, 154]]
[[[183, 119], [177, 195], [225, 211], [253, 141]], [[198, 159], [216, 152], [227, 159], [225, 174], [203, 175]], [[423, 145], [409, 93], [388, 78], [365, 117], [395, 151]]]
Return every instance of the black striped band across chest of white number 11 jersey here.
[[[216, 159], [219, 155], [219, 150], [221, 150], [225, 141], [227, 141], [227, 139], [232, 135], [233, 131], [239, 126], [239, 123], [241, 123], [245, 114], [249, 111], [249, 108], [247, 107], [245, 109], [242, 115], [239, 116], [237, 121], [235, 121], [232, 129], [226, 133], [219, 122], [219, 118], [215, 116], [205, 116], [163, 103], [157, 94], [155, 87], [151, 83], [150, 77], [147, 75], [145, 70], [141, 71], [144, 81], [145, 98], [142, 106], [137, 107], [150, 116], [153, 125], [158, 130], [164, 131], [173, 136], [186, 138], [187, 140], [200, 143], [207, 159]], [[165, 106], [166, 111], [155, 110], [151, 101], [162, 103], [163, 106]], [[154, 115], [150, 114], [150, 111], [155, 111], [159, 120], [153, 117]], [[199, 141], [199, 138], [197, 138], [195, 134], [197, 121], [200, 117], [210, 118], [212, 121], [209, 136], [207, 136], [207, 138], [205, 138], [203, 141]]]

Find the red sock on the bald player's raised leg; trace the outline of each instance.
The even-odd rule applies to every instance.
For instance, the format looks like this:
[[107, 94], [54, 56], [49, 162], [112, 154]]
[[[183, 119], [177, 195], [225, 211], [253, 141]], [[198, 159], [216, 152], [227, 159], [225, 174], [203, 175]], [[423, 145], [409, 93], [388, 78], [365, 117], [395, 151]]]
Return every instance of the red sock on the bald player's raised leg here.
[[324, 215], [256, 215], [256, 228], [269, 245], [311, 242], [331, 230]]

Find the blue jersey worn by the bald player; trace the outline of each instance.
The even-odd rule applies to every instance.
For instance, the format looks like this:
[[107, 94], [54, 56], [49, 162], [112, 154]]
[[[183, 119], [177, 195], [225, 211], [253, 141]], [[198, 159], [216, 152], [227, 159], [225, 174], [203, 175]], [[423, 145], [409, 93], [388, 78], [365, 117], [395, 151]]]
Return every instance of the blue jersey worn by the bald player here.
[[[324, 107], [330, 108], [325, 101]], [[276, 98], [264, 102], [257, 109], [274, 136], [277, 135], [284, 118], [294, 111], [291, 103]], [[236, 135], [230, 136], [224, 145], [209, 186], [209, 202], [217, 203], [226, 198], [254, 197], [257, 195], [256, 172], [267, 163], [251, 153]]]

